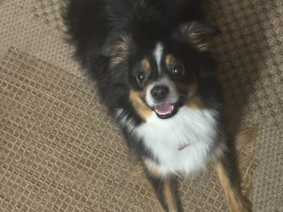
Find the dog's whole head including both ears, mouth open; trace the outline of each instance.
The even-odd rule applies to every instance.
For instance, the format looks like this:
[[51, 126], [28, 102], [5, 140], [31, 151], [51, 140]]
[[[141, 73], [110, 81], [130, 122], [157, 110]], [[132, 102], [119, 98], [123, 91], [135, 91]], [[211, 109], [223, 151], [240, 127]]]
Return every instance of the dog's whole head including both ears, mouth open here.
[[215, 69], [205, 37], [217, 33], [213, 27], [192, 22], [165, 39], [135, 42], [123, 37], [111, 65], [128, 64], [129, 99], [144, 120], [153, 112], [168, 119], [182, 106], [203, 107], [201, 79]]

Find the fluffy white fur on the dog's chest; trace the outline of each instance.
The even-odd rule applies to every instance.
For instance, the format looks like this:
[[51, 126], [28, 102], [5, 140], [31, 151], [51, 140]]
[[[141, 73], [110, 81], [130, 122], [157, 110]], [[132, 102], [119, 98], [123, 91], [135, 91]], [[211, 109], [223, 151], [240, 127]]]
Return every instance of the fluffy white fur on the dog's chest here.
[[[193, 178], [211, 160], [211, 147], [217, 136], [214, 115], [215, 112], [211, 110], [183, 106], [169, 119], [162, 120], [152, 114], [135, 131], [158, 159], [160, 172], [164, 175], [176, 173]], [[188, 146], [179, 150], [186, 145]]]

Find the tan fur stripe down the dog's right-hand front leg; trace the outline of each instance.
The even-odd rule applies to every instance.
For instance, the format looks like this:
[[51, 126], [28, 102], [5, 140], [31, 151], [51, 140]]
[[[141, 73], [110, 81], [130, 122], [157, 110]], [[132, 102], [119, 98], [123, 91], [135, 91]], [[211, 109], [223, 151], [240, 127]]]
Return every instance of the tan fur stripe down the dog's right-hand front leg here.
[[243, 196], [239, 186], [235, 185], [235, 187], [231, 187], [221, 162], [217, 161], [215, 168], [226, 194], [230, 212], [250, 212], [250, 203]]

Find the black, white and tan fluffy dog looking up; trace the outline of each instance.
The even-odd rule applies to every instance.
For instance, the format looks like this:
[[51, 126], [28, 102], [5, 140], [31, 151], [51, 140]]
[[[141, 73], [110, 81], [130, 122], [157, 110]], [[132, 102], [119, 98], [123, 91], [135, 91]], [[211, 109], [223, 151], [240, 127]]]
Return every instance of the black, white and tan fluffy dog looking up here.
[[68, 0], [75, 57], [166, 212], [181, 211], [175, 179], [215, 167], [231, 212], [250, 211], [231, 162], [217, 62], [199, 0]]

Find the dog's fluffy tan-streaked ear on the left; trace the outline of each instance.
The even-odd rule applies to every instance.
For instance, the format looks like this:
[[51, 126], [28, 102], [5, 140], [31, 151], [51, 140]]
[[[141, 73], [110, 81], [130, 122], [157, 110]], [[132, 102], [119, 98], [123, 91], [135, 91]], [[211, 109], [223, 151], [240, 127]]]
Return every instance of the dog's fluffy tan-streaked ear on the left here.
[[105, 49], [108, 57], [111, 57], [111, 66], [115, 66], [121, 62], [125, 62], [130, 53], [130, 44], [132, 42], [131, 35], [121, 35], [119, 39], [112, 41]]

